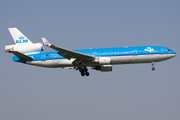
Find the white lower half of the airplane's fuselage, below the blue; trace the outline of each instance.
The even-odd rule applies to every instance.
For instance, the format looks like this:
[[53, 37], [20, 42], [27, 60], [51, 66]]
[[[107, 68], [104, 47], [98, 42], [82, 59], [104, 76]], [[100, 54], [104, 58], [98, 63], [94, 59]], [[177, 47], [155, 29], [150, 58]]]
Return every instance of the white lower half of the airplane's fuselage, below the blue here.
[[[151, 63], [159, 62], [174, 55], [171, 54], [154, 54], [154, 55], [134, 55], [134, 56], [112, 56], [110, 64], [133, 64], [133, 63]], [[54, 59], [54, 60], [41, 60], [41, 61], [27, 61], [26, 64], [40, 66], [40, 67], [73, 67], [72, 62], [75, 59]], [[95, 63], [85, 63], [85, 66], [97, 66]]]

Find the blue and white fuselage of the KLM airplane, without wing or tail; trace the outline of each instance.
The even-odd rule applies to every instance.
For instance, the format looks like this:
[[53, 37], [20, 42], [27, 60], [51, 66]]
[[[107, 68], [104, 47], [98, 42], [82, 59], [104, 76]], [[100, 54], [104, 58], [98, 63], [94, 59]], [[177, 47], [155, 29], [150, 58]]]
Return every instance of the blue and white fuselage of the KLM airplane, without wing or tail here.
[[[74, 50], [76, 52], [92, 55], [95, 57], [109, 57], [110, 61], [104, 61], [104, 64], [130, 64], [130, 63], [152, 63], [170, 59], [176, 55], [174, 51], [160, 46], [141, 46], [141, 47], [119, 47], [119, 48], [101, 48]], [[41, 67], [74, 67], [73, 61], [68, 60], [58, 54], [58, 51], [43, 52], [27, 55], [33, 60], [26, 60], [13, 57], [15, 62], [26, 62], [27, 64]], [[106, 59], [105, 59], [106, 60]], [[96, 66], [96, 62], [85, 62], [85, 66]], [[100, 65], [100, 64], [99, 64]]]

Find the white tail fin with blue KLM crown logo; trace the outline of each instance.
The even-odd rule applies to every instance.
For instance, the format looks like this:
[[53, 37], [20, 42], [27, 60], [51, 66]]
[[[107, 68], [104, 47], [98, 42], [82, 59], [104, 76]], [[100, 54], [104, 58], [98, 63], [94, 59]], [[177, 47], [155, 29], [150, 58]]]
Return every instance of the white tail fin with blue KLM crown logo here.
[[33, 44], [25, 35], [23, 35], [17, 28], [8, 28], [14, 39], [15, 44]]

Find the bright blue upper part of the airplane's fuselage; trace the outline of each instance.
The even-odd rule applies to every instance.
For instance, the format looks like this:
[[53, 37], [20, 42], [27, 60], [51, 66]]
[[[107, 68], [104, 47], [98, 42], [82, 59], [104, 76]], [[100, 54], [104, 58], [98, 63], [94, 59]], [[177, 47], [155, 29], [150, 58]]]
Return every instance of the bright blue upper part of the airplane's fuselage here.
[[[83, 49], [74, 50], [76, 52], [94, 55], [98, 57], [105, 56], [129, 56], [129, 55], [148, 55], [148, 54], [176, 54], [174, 51], [168, 51], [169, 48], [160, 46], [140, 46], [140, 47], [119, 47], [119, 48], [100, 48], [100, 49]], [[52, 59], [65, 59], [64, 57], [57, 54], [58, 51], [43, 52], [37, 54], [28, 55], [33, 57], [33, 61], [37, 60], [52, 60]], [[21, 60], [14, 56], [13, 61], [31, 61]]]

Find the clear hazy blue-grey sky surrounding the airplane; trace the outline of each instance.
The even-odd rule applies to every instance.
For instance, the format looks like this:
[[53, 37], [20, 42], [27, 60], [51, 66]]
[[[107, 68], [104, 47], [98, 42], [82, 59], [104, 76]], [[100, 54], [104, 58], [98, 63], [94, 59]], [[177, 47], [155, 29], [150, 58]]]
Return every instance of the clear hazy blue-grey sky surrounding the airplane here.
[[[179, 120], [180, 1], [0, 1], [1, 120]], [[32, 42], [41, 37], [67, 49], [155, 45], [177, 56], [151, 64], [89, 69], [49, 69], [12, 61], [4, 52], [17, 27]], [[52, 51], [45, 47], [45, 51]]]

